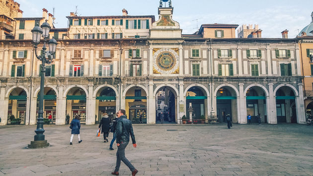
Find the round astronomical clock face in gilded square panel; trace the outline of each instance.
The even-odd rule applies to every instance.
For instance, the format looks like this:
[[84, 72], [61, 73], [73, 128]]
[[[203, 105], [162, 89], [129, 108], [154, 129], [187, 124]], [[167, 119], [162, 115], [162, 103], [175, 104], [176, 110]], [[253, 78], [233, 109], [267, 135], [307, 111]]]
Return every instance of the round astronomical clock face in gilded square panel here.
[[178, 70], [178, 50], [155, 49], [154, 50], [154, 73], [156, 74], [177, 74]]

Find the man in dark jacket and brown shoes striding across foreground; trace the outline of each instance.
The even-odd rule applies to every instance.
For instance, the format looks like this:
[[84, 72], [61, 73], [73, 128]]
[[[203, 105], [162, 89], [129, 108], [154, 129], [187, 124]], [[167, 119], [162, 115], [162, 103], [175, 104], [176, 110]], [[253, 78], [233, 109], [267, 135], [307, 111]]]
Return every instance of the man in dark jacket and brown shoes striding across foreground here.
[[132, 122], [127, 119], [125, 116], [125, 110], [118, 111], [118, 121], [116, 124], [116, 145], [117, 145], [117, 152], [116, 152], [116, 167], [112, 175], [118, 176], [119, 169], [121, 166], [121, 161], [131, 170], [132, 176], [135, 176], [138, 173], [138, 170], [127, 160], [125, 157], [125, 148], [129, 143], [129, 136], [132, 138], [133, 146], [136, 148], [137, 144], [135, 141], [135, 135], [133, 130]]

